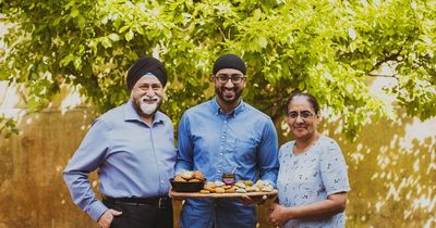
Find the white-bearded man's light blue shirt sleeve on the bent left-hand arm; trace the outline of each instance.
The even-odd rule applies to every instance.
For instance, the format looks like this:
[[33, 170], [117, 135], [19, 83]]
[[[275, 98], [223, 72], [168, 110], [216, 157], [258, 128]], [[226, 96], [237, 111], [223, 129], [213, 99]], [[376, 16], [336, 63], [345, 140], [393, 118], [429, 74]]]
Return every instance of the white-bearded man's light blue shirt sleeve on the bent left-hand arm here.
[[95, 197], [88, 174], [104, 163], [110, 142], [108, 135], [109, 128], [104, 121], [94, 122], [63, 170], [63, 179], [74, 203], [96, 221], [108, 208]]

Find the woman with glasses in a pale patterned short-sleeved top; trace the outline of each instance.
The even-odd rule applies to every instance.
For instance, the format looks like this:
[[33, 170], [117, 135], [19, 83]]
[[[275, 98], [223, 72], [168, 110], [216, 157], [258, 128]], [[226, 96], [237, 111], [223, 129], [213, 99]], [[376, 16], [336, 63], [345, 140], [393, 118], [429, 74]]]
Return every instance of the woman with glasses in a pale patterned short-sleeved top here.
[[318, 102], [310, 93], [292, 92], [287, 111], [294, 140], [279, 151], [279, 204], [269, 207], [269, 221], [286, 228], [344, 227], [346, 161], [338, 143], [316, 130]]

